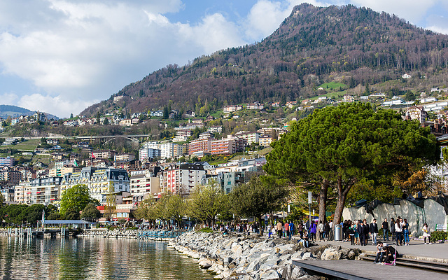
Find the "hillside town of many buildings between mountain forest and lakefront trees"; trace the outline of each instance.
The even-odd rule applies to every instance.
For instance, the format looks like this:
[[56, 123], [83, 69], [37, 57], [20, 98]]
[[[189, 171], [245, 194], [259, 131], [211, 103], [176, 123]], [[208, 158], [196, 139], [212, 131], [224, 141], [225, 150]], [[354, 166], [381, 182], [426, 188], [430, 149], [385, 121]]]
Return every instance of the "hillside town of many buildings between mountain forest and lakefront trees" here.
[[[433, 89], [437, 94], [447, 92]], [[116, 134], [64, 137], [8, 137], [0, 146], [1, 194], [6, 204], [44, 204], [60, 206], [62, 193], [77, 184], [85, 184], [104, 213], [108, 195], [116, 197], [115, 221], [134, 219], [133, 211], [147, 198], [158, 200], [164, 193], [188, 196], [196, 186], [214, 181], [224, 193], [246, 183], [253, 174], [262, 172], [265, 155], [271, 144], [288, 133], [291, 121], [299, 112], [312, 112], [339, 102], [372, 102], [377, 107], [402, 113], [403, 120], [417, 120], [430, 127], [437, 136], [446, 134], [447, 101], [422, 94], [417, 102], [400, 97], [390, 100], [386, 94], [372, 93], [361, 97], [344, 95], [339, 100], [319, 97], [302, 102], [272, 102], [224, 106], [214, 117], [197, 117], [193, 111], [177, 110], [148, 113], [116, 111], [96, 118], [83, 116], [66, 120], [46, 120], [45, 115], [3, 120], [3, 129], [29, 123], [46, 123], [50, 127], [102, 127], [142, 125], [155, 122], [158, 139], [151, 134]], [[272, 112], [283, 111], [272, 118]], [[255, 112], [255, 113], [254, 113]], [[264, 114], [264, 115], [263, 115]], [[126, 116], [127, 115], [127, 116]], [[255, 118], [254, 118], [255, 116]], [[430, 120], [432, 118], [432, 120]], [[224, 125], [232, 120], [234, 126]], [[247, 125], [255, 123], [256, 125]], [[246, 126], [245, 126], [246, 124]], [[253, 130], [243, 130], [253, 128]], [[153, 132], [153, 131], [152, 131]], [[4, 133], [4, 132], [3, 132]], [[114, 141], [125, 146], [114, 149]], [[104, 148], [111, 147], [111, 148]], [[120, 151], [118, 151], [120, 150]], [[125, 152], [123, 152], [125, 151]], [[448, 175], [448, 170], [434, 172]], [[101, 221], [106, 221], [102, 218]]]

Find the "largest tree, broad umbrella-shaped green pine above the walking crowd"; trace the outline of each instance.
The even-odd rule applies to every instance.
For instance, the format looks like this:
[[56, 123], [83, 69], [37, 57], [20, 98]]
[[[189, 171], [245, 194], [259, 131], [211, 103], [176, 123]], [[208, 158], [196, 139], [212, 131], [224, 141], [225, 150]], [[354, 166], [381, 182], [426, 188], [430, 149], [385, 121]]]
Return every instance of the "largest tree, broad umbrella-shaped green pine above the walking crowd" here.
[[294, 184], [314, 184], [321, 194], [335, 189], [335, 223], [356, 183], [430, 165], [439, 157], [428, 128], [403, 121], [393, 110], [374, 112], [370, 104], [361, 103], [316, 110], [293, 123], [272, 146], [264, 167], [268, 174]]

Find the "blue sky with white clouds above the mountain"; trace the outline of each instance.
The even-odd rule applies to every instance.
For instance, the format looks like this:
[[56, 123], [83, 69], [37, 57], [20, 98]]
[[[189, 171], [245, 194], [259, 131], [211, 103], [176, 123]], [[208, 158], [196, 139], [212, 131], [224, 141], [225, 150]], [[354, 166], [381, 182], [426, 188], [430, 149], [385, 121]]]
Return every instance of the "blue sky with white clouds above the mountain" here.
[[1, 0], [0, 104], [76, 115], [168, 64], [261, 41], [303, 2], [448, 34], [447, 0]]

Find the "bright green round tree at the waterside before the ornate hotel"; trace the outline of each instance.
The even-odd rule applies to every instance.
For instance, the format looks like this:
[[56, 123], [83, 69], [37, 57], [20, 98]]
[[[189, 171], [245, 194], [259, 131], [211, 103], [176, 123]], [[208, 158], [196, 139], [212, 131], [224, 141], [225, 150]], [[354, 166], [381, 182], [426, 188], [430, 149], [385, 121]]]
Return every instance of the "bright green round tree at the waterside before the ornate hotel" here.
[[69, 209], [79, 213], [87, 204], [95, 202], [97, 201], [90, 196], [89, 188], [86, 185], [77, 184], [62, 193], [60, 212], [62, 216], [65, 216], [65, 212]]

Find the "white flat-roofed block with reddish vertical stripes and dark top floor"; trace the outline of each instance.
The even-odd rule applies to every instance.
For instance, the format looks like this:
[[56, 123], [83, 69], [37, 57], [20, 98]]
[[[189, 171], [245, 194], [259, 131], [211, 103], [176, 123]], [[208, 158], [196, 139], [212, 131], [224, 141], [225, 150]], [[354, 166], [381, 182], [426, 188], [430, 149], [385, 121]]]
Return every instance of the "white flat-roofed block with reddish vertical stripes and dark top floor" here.
[[202, 165], [170, 165], [160, 174], [160, 190], [162, 193], [188, 195], [200, 185], [205, 173]]

